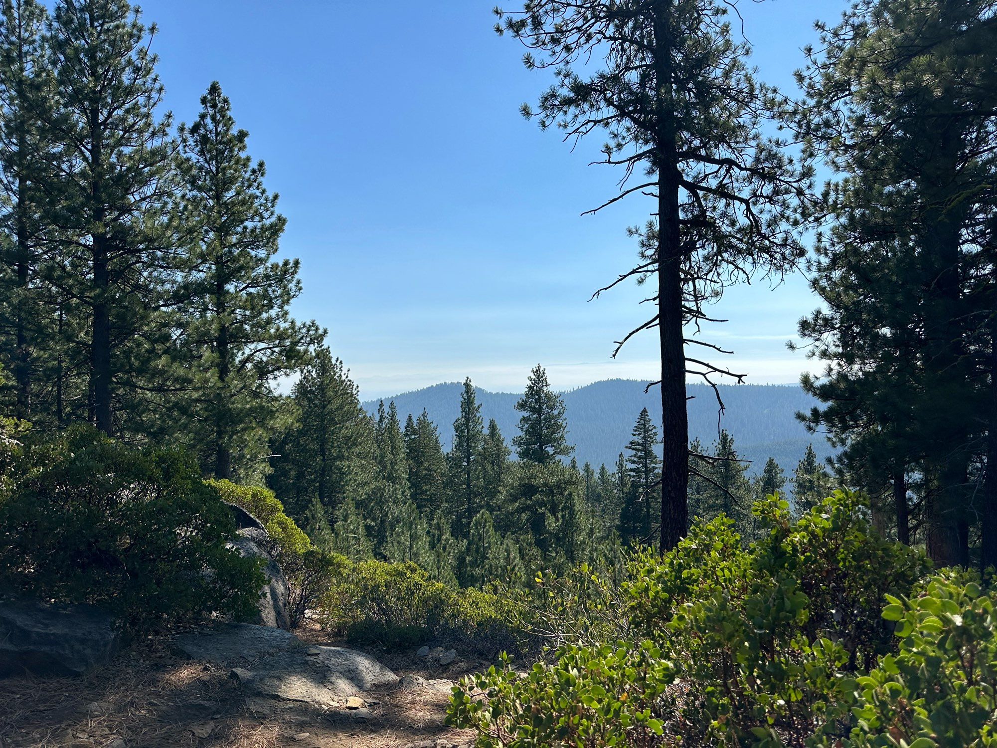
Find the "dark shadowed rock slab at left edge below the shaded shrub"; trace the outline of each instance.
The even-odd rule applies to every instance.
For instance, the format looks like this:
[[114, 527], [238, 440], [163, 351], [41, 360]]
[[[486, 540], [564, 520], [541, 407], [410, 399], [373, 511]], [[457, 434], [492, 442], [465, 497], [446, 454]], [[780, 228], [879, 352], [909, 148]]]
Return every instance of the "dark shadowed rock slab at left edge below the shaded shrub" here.
[[0, 677], [83, 675], [120, 648], [114, 618], [90, 605], [0, 603]]

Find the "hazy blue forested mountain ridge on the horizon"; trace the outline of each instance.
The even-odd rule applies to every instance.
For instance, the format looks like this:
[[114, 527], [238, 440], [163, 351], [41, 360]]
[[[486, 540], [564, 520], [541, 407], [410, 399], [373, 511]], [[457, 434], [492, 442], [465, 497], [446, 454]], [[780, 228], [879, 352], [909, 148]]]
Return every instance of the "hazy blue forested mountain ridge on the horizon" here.
[[[645, 393], [645, 386], [645, 382], [636, 380], [609, 379], [560, 393], [566, 408], [568, 441], [575, 446], [574, 457], [579, 465], [589, 462], [598, 470], [604, 463], [612, 468], [630, 441], [630, 431], [642, 408], [648, 409], [660, 431], [660, 395], [653, 387]], [[395, 402], [403, 425], [410, 413], [416, 418], [426, 409], [440, 430], [444, 449], [449, 450], [462, 389], [462, 384], [447, 382], [384, 398], [384, 402]], [[486, 426], [494, 418], [511, 444], [512, 437], [519, 433], [515, 403], [520, 395], [480, 387], [476, 390]], [[750, 474], [760, 472], [770, 457], [788, 475], [792, 474], [808, 444], [814, 445], [822, 459], [833, 452], [823, 436], [808, 434], [797, 419], [799, 411], [809, 411], [816, 404], [798, 385], [720, 385], [726, 406], [723, 416], [719, 415], [716, 397], [708, 385], [690, 384], [688, 390], [693, 397], [688, 406], [690, 438], [698, 437], [709, 449], [717, 439], [719, 420], [719, 428], [733, 435], [739, 456], [752, 461]], [[371, 400], [363, 405], [375, 413], [378, 402]]]

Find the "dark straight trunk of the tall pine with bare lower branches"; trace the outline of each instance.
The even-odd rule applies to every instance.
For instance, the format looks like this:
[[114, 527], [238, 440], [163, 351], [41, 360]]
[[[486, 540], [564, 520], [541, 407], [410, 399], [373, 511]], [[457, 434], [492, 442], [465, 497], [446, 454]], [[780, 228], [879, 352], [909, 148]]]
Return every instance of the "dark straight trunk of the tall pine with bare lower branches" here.
[[685, 346], [682, 331], [682, 245], [679, 175], [672, 106], [672, 0], [658, 0], [654, 17], [657, 85], [658, 336], [661, 344], [661, 553], [686, 534], [689, 492], [689, 418], [686, 413]]

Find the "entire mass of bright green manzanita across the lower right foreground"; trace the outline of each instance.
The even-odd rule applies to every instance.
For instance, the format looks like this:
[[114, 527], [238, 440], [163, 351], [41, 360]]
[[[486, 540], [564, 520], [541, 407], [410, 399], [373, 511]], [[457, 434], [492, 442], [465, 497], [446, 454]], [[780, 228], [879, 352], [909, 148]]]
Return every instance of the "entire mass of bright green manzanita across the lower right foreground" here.
[[778, 497], [754, 511], [747, 547], [720, 517], [635, 556], [625, 639], [564, 643], [525, 673], [504, 658], [455, 688], [450, 723], [480, 746], [997, 745], [978, 578], [920, 582], [923, 554], [846, 491], [800, 518]]

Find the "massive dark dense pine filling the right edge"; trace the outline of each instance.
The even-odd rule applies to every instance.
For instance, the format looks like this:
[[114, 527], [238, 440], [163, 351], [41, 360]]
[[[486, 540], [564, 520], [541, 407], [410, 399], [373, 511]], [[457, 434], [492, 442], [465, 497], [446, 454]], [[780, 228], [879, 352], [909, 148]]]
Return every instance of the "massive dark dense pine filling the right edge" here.
[[904, 540], [919, 475], [928, 554], [965, 564], [969, 476], [992, 426], [975, 362], [992, 309], [993, 4], [862, 2], [821, 32], [800, 127], [844, 176], [821, 211], [821, 309], [801, 323], [829, 363], [804, 381], [822, 401], [810, 423], [850, 475], [890, 477]]

